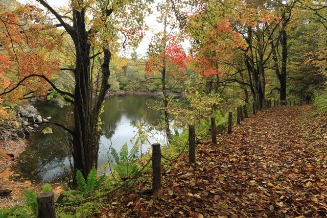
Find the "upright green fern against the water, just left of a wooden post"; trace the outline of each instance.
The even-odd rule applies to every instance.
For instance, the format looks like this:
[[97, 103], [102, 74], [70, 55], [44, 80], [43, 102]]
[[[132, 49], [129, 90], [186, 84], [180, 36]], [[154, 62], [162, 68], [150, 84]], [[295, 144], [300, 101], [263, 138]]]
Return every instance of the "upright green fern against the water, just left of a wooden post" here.
[[119, 156], [114, 148], [111, 148], [111, 155], [115, 163], [111, 160], [111, 165], [114, 171], [123, 179], [130, 179], [136, 176], [141, 166], [137, 164], [139, 159], [138, 146], [133, 146], [130, 152], [128, 152], [127, 143], [123, 144]]

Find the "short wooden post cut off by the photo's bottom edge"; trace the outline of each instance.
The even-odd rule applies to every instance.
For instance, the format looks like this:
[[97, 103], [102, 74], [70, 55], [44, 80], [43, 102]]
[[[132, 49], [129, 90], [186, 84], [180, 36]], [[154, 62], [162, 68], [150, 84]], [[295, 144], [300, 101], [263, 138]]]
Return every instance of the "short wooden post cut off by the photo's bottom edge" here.
[[55, 194], [52, 191], [40, 193], [36, 201], [39, 209], [38, 217], [56, 218]]

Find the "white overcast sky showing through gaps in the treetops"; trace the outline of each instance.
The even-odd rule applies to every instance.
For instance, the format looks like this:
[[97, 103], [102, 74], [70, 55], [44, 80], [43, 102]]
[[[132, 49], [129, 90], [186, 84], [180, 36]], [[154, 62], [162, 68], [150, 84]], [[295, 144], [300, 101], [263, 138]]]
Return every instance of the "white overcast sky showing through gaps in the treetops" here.
[[[31, 1], [33, 2], [33, 4], [37, 4], [33, 0], [18, 0], [18, 2], [20, 2], [22, 4], [30, 3]], [[158, 1], [160, 1], [160, 0], [155, 0], [155, 2], [158, 2]], [[70, 1], [68, 1], [68, 0], [48, 0], [47, 2], [51, 7], [58, 8], [58, 7], [62, 7], [62, 6], [67, 6]], [[155, 11], [155, 9], [154, 9], [154, 11]], [[147, 16], [145, 18], [145, 22], [146, 22], [146, 25], [149, 27], [149, 30], [146, 31], [145, 37], [143, 38], [142, 42], [138, 45], [138, 47], [136, 49], [137, 54], [141, 55], [141, 56], [146, 56], [146, 53], [147, 53], [147, 50], [149, 47], [149, 43], [151, 42], [151, 38], [153, 37], [154, 33], [164, 30], [164, 25], [162, 23], [158, 23], [156, 21], [155, 14], [151, 14], [150, 16]], [[184, 47], [185, 50], [187, 50], [188, 47], [190, 46], [190, 43], [188, 41], [184, 41], [182, 43], [182, 46]], [[120, 52], [120, 55], [122, 55], [122, 56], [126, 55], [127, 57], [129, 57], [132, 52], [133, 52], [133, 49], [130, 48], [127, 51]]]

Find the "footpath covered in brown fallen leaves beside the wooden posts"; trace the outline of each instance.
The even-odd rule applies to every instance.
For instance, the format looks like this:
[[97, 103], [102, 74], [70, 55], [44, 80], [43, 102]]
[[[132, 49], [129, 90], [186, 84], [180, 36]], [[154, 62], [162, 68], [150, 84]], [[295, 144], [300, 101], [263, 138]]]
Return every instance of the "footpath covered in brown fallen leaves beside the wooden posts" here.
[[314, 139], [303, 129], [309, 122], [299, 120], [308, 110], [278, 107], [245, 119], [232, 134], [218, 136], [217, 145], [198, 146], [195, 164], [184, 156], [164, 166], [162, 196], [142, 195], [147, 185], [138, 183], [116, 193], [106, 214], [325, 217], [327, 148], [309, 143]]

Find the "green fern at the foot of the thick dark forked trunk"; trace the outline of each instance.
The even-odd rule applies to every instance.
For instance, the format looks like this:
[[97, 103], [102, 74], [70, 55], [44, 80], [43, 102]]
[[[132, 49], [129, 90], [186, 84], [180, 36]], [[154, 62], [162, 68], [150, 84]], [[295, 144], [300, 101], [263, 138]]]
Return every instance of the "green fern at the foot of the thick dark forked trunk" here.
[[85, 181], [82, 173], [80, 171], [76, 172], [76, 182], [78, 189], [83, 193], [84, 197], [89, 197], [99, 189], [101, 183], [103, 183], [105, 176], [101, 176], [97, 179], [97, 169], [92, 168], [89, 172], [87, 179]]

